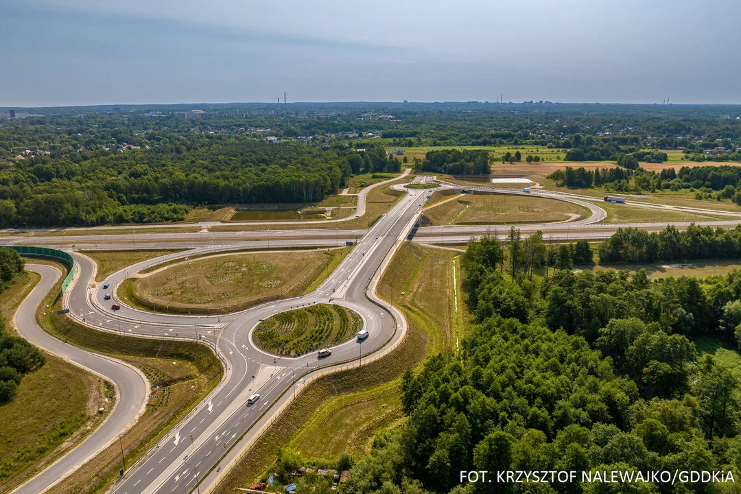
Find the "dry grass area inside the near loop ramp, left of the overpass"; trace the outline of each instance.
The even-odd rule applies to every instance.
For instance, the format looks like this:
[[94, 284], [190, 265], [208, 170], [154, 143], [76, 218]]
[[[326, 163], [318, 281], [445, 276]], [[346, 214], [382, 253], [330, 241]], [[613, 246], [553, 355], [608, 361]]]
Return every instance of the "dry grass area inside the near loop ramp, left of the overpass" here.
[[[125, 301], [177, 313], [222, 313], [302, 293], [349, 248], [222, 254], [172, 264], [119, 288]], [[337, 261], [339, 262], [339, 261]], [[335, 264], [336, 265], [336, 264]]]

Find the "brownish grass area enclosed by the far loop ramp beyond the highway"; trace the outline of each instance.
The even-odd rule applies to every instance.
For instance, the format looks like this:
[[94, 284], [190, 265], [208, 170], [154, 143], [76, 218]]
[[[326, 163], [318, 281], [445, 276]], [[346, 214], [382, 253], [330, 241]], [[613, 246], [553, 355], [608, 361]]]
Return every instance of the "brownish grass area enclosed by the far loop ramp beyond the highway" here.
[[588, 217], [585, 207], [566, 201], [505, 194], [466, 194], [427, 207], [425, 216], [433, 225], [509, 224], [564, 221]]

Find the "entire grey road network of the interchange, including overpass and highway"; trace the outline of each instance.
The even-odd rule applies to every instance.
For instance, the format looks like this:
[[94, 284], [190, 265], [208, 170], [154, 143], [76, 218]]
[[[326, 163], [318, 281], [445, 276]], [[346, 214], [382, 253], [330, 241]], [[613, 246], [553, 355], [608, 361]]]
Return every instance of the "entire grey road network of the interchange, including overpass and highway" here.
[[[432, 179], [417, 177], [416, 181], [431, 182]], [[631, 226], [599, 224], [606, 216], [605, 210], [594, 204], [596, 198], [587, 196], [557, 195], [539, 190], [524, 193], [522, 190], [513, 189], [463, 187], [447, 182], [437, 184], [442, 188], [456, 190], [481, 189], [482, 192], [489, 193], [558, 198], [587, 207], [591, 211], [588, 218], [568, 223], [516, 225], [525, 235], [542, 230], [545, 238], [604, 238], [614, 233], [617, 227]], [[203, 233], [200, 232], [162, 233], [158, 230], [158, 233], [147, 233], [147, 227], [142, 227], [141, 233], [136, 234], [136, 248], [186, 250], [126, 267], [101, 282], [95, 281], [95, 262], [80, 251], [96, 247], [130, 249], [133, 236], [127, 234], [86, 236], [73, 233], [64, 238], [8, 236], [3, 239], [5, 244], [33, 242], [70, 251], [79, 270], [72, 287], [65, 295], [64, 304], [70, 310], [70, 317], [81, 324], [129, 336], [199, 340], [213, 347], [224, 362], [225, 375], [219, 386], [141, 461], [133, 467], [129, 466], [124, 478], [116, 484], [116, 493], [189, 493], [196, 489], [196, 484], [199, 484], [200, 492], [208, 492], [265, 426], [279, 414], [282, 407], [293, 399], [293, 390], [297, 389], [300, 392], [302, 386], [310, 379], [327, 372], [331, 367], [360, 364], [361, 350], [362, 359], [376, 358], [402, 340], [406, 330], [404, 316], [396, 307], [390, 307], [387, 301], [379, 298], [375, 293], [375, 286], [396, 248], [407, 238], [413, 225], [419, 220], [425, 196], [428, 196], [431, 190], [406, 189], [402, 186], [394, 188], [404, 190], [407, 195], [368, 230], [330, 228], [330, 230], [276, 229], [270, 233], [265, 230], [205, 232], [207, 238], [204, 242]], [[369, 190], [371, 187], [361, 192], [356, 214], [350, 218], [362, 216], [365, 212], [365, 195]], [[640, 207], [674, 209], [661, 205], [637, 204], [640, 204]], [[737, 220], [734, 221], [731, 217], [741, 217], [741, 213], [714, 210], [693, 208], [677, 210], [729, 216], [728, 220], [707, 222], [727, 227], [734, 227], [737, 224]], [[348, 221], [350, 218], [340, 221]], [[678, 227], [685, 226], [674, 224]], [[660, 230], [666, 225], [667, 223], [657, 222], [642, 224], [641, 227]], [[203, 230], [209, 227], [208, 224], [201, 226]], [[471, 236], [484, 234], [495, 233], [505, 236], [508, 230], [509, 225], [420, 227], [416, 230], [413, 241], [461, 242], [467, 241]], [[245, 248], [335, 247], [344, 244], [345, 241], [356, 241], [356, 246], [312, 293], [282, 301], [271, 301], [239, 313], [222, 316], [148, 313], [128, 307], [122, 301], [118, 301], [115, 295], [116, 286], [125, 278], [163, 261]], [[29, 261], [28, 269], [39, 272], [42, 281], [27, 296], [16, 315], [16, 325], [23, 336], [34, 344], [112, 381], [116, 385], [117, 399], [116, 407], [109, 413], [101, 427], [47, 470], [14, 491], [23, 494], [43, 492], [107, 444], [116, 441], [120, 433], [136, 422], [150, 393], [146, 379], [133, 367], [64, 344], [44, 333], [36, 325], [33, 317], [36, 307], [58, 279], [59, 271], [53, 267], [33, 264], [33, 261]], [[104, 283], [110, 284], [110, 288], [102, 290]], [[104, 300], [105, 293], [113, 294], [114, 301], [121, 305], [121, 310], [116, 313], [110, 310], [111, 301]], [[292, 308], [318, 303], [340, 304], [359, 313], [370, 333], [370, 336], [362, 341], [362, 347], [360, 341], [351, 340], [334, 347], [331, 356], [320, 360], [316, 353], [300, 358], [278, 358], [259, 350], [253, 344], [252, 330], [260, 319]], [[253, 393], [260, 394], [259, 401], [247, 406], [247, 398]]]

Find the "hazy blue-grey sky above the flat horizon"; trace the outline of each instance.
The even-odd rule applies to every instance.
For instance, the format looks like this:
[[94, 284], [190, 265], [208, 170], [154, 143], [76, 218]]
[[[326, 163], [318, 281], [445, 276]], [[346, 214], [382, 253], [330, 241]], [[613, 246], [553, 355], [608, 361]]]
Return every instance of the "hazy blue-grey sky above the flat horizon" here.
[[741, 104], [738, 0], [0, 0], [0, 107]]

